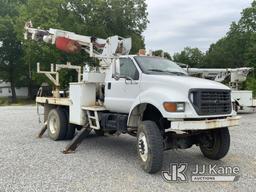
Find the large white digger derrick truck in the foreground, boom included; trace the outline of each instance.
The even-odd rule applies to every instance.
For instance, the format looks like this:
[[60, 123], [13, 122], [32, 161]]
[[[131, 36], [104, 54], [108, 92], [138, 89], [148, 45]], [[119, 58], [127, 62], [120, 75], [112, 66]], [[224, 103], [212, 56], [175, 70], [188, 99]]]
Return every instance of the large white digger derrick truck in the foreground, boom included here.
[[[138, 158], [148, 173], [161, 169], [164, 150], [197, 145], [205, 157], [215, 160], [228, 153], [228, 128], [238, 126], [240, 119], [229, 87], [189, 77], [163, 58], [128, 55], [129, 38], [97, 39], [36, 29], [31, 23], [25, 26], [25, 38], [55, 44], [68, 53], [84, 50], [100, 60], [98, 71], [70, 63], [41, 71], [38, 64], [38, 72], [54, 84], [52, 93], [45, 94], [42, 87], [36, 98], [44, 107], [39, 137], [48, 130], [53, 140], [73, 139], [64, 153], [75, 151], [91, 130], [137, 137]], [[69, 95], [60, 90], [61, 68], [78, 72], [78, 82], [69, 84]]]

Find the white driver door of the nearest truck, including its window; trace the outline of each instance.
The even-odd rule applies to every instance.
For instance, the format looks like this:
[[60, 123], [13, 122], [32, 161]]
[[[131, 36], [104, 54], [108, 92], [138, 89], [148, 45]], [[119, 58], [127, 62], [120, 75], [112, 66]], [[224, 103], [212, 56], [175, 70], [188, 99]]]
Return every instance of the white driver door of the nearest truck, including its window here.
[[129, 113], [140, 93], [140, 73], [130, 58], [120, 58], [105, 88], [105, 106], [119, 113]]

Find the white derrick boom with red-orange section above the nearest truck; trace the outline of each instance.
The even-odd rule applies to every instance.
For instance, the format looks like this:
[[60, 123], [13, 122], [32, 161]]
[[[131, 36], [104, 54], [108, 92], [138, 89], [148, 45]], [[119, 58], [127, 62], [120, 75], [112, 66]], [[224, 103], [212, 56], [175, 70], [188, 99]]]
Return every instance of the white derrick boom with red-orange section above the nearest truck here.
[[132, 46], [131, 38], [112, 36], [101, 39], [59, 29], [43, 30], [33, 28], [31, 21], [25, 24], [24, 37], [25, 39], [55, 44], [57, 49], [67, 53], [77, 53], [84, 50], [90, 57], [98, 59], [111, 59], [118, 57], [118, 55], [127, 55]]

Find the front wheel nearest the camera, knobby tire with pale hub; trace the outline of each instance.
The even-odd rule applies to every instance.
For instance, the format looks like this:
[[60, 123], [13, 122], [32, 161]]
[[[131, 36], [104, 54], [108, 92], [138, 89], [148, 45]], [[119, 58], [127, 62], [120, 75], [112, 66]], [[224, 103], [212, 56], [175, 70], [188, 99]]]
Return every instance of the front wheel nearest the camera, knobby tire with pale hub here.
[[163, 137], [153, 121], [143, 121], [137, 132], [137, 153], [142, 169], [156, 173], [163, 163]]

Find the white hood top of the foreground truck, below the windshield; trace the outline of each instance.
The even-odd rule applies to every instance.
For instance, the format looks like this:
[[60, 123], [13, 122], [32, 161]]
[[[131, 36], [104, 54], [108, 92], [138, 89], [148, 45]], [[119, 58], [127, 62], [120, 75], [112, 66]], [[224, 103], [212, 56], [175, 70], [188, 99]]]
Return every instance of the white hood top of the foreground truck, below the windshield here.
[[206, 80], [202, 78], [190, 77], [190, 76], [170, 76], [170, 75], [145, 75], [143, 81], [150, 82], [152, 84], [168, 85], [169, 87], [179, 89], [226, 89], [230, 88], [221, 83]]

